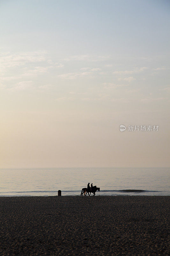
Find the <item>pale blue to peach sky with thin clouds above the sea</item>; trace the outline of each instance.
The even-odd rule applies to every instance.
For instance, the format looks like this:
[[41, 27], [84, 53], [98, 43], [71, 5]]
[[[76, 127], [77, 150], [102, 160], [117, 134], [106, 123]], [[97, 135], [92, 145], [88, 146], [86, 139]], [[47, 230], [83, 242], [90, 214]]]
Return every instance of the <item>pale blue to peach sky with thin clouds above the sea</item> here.
[[169, 1], [0, 0], [0, 24], [1, 168], [170, 166]]

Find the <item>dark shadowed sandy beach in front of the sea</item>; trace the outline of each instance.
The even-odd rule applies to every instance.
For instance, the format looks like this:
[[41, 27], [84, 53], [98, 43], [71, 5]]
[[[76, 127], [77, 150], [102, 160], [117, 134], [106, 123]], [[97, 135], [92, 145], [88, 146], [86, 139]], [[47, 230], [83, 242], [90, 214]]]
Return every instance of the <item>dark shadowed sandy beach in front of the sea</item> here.
[[0, 255], [168, 255], [169, 199], [0, 197]]

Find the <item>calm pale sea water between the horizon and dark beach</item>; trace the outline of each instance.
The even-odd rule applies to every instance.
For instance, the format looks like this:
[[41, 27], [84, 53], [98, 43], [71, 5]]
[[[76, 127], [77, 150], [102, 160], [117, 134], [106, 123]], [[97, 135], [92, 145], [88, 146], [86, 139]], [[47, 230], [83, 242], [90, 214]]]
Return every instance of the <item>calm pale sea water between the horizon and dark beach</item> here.
[[[88, 182], [96, 196], [169, 196], [169, 168], [0, 169], [0, 196], [78, 196]], [[135, 189], [142, 192], [124, 192]]]

